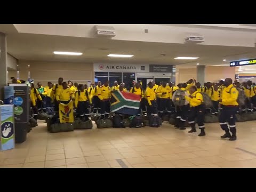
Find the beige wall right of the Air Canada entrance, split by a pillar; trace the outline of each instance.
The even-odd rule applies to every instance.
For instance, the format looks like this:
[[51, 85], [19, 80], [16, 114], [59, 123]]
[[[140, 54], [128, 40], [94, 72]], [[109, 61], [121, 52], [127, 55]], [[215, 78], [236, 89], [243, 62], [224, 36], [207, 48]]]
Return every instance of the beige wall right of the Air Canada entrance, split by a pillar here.
[[[196, 78], [196, 68], [179, 69], [176, 84], [187, 82], [190, 78]], [[205, 67], [205, 82], [217, 83], [220, 79], [235, 78], [235, 67], [207, 66]]]

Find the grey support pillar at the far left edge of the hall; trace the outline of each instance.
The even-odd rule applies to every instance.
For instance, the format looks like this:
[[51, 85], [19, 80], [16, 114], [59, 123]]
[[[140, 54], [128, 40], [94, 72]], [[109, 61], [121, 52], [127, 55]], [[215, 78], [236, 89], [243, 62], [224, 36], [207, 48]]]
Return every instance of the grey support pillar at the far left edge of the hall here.
[[0, 100], [4, 99], [4, 86], [7, 85], [7, 43], [6, 35], [0, 32]]

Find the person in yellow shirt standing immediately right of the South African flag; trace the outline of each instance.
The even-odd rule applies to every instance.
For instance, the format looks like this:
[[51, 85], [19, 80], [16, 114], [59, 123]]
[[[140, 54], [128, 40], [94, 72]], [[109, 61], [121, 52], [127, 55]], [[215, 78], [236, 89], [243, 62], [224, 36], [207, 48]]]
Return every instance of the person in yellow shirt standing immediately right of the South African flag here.
[[156, 103], [156, 93], [154, 90], [154, 83], [149, 82], [148, 88], [146, 91], [146, 97], [148, 101], [148, 112], [147, 115], [156, 115], [157, 114], [157, 103]]

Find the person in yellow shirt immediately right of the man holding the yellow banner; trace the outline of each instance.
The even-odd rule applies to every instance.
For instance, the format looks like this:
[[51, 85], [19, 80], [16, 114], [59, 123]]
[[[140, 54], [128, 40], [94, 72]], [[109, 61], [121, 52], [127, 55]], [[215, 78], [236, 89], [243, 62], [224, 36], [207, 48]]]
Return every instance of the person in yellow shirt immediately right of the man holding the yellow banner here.
[[85, 89], [84, 85], [78, 85], [78, 91], [75, 96], [75, 107], [77, 108], [77, 113], [79, 118], [83, 121], [89, 120], [89, 105], [92, 103], [89, 97], [88, 91]]

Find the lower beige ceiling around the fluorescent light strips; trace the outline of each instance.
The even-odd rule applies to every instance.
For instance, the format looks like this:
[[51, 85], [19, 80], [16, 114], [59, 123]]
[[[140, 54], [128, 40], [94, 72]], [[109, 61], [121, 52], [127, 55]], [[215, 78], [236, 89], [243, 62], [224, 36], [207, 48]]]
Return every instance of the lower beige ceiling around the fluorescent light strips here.
[[[54, 55], [53, 51], [83, 52], [83, 55]], [[186, 68], [195, 67], [196, 63], [222, 65], [232, 60], [256, 57], [255, 47], [151, 43], [22, 33], [7, 35], [7, 52], [20, 60], [166, 63], [182, 64], [181, 66]], [[108, 58], [109, 53], [133, 54], [134, 57]], [[199, 57], [199, 59], [176, 60], [173, 59], [175, 57]], [[222, 59], [227, 59], [227, 61], [223, 62]]]

